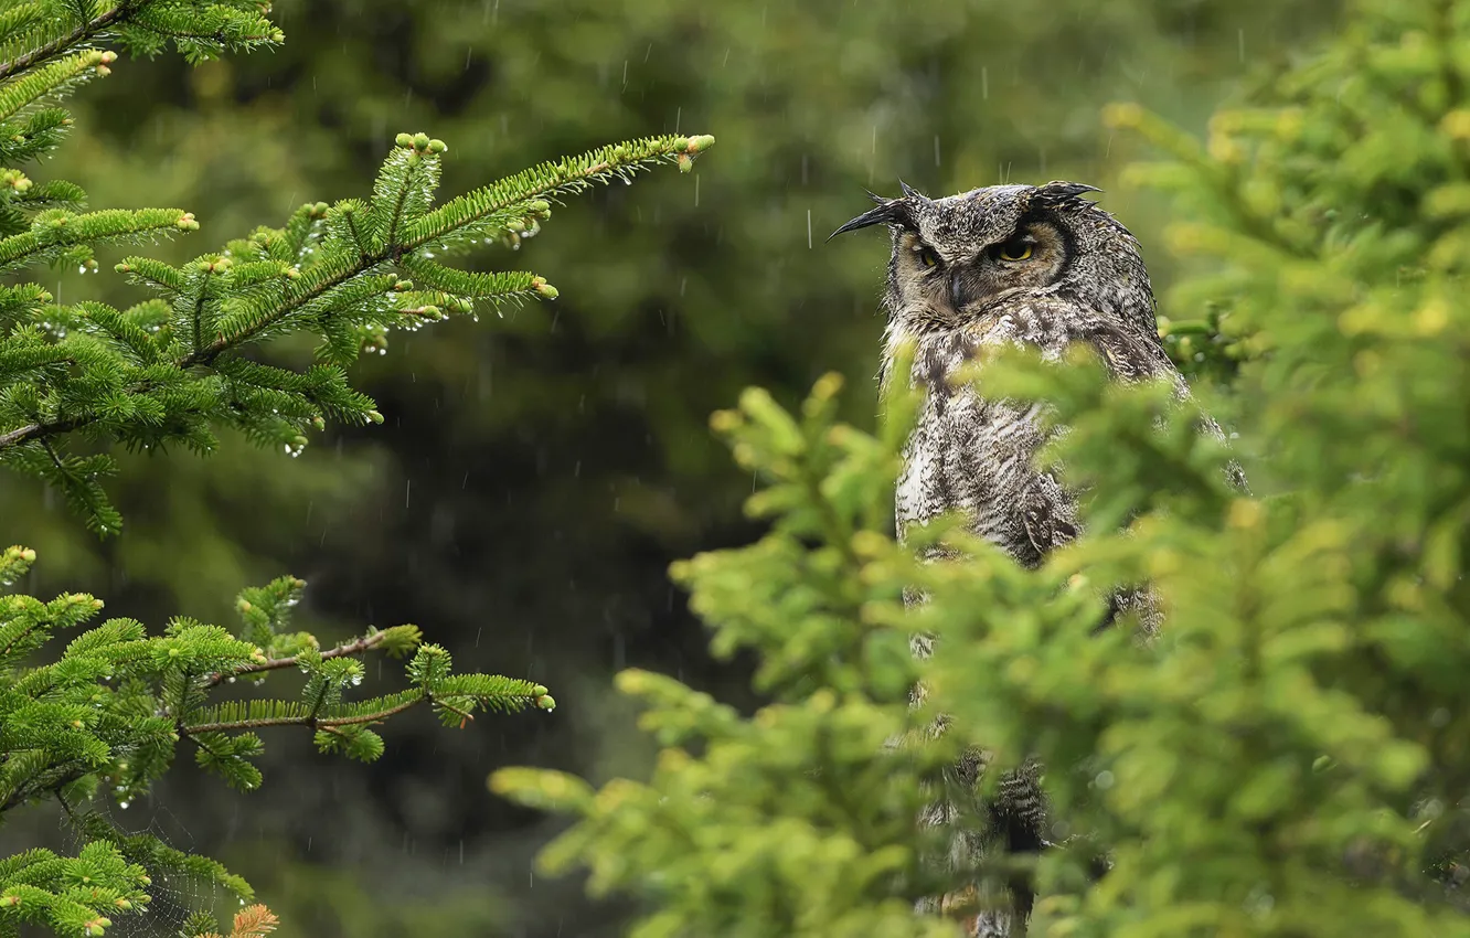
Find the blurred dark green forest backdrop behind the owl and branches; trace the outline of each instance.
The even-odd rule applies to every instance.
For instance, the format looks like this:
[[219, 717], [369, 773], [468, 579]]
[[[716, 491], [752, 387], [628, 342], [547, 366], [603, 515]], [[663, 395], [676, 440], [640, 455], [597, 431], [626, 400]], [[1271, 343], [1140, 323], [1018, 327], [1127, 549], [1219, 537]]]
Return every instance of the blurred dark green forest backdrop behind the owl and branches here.
[[[485, 776], [641, 773], [651, 747], [610, 685], [625, 666], [754, 703], [666, 568], [759, 535], [710, 412], [751, 384], [789, 404], [826, 370], [873, 382], [886, 240], [826, 232], [900, 176], [936, 194], [1085, 181], [1141, 237], [1167, 312], [1169, 219], [1119, 184], [1139, 153], [1100, 109], [1133, 100], [1202, 131], [1335, 15], [1327, 0], [284, 0], [275, 53], [118, 62], [32, 175], [75, 179], [98, 209], [191, 210], [207, 244], [363, 194], [400, 131], [448, 143], [445, 196], [619, 138], [719, 140], [691, 176], [589, 193], [520, 250], [485, 248], [473, 268], [534, 269], [560, 298], [394, 337], [357, 366], [382, 426], [331, 429], [300, 459], [238, 440], [207, 460], [125, 456], [112, 491], [128, 529], [106, 543], [40, 487], [0, 482], [0, 541], [46, 557], [29, 592], [87, 590], [154, 626], [232, 623], [241, 587], [291, 572], [323, 640], [415, 622], [462, 669], [534, 678], [559, 701], [465, 731], [397, 719], [372, 766], [270, 737], [263, 791], [181, 765], [123, 820], [225, 860], [288, 937], [619, 934], [622, 910], [531, 873], [559, 822]], [[62, 301], [141, 298], [100, 259], [100, 275], [41, 279]], [[3, 845], [56, 837], [37, 817]]]

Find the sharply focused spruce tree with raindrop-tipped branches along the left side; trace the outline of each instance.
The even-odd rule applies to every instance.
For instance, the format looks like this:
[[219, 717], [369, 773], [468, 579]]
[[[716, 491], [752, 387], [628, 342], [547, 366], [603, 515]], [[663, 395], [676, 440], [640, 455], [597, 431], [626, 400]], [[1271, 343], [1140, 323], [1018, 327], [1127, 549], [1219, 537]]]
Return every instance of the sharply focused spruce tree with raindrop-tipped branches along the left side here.
[[[18, 166], [54, 148], [71, 126], [59, 101], [109, 74], [113, 43], [153, 54], [172, 44], [190, 60], [284, 40], [254, 0], [34, 0], [0, 9], [0, 271], [35, 262], [96, 269], [103, 243], [156, 241], [198, 229], [178, 209], [84, 210], [84, 191], [35, 182]], [[442, 263], [484, 240], [534, 235], [551, 203], [597, 182], [629, 181], [659, 163], [682, 171], [710, 137], [657, 137], [545, 163], [434, 206], [447, 147], [400, 134], [366, 200], [310, 203], [281, 228], [259, 228], [222, 250], [173, 266], [128, 257], [118, 272], [154, 296], [128, 309], [60, 304], [31, 282], [0, 288], [0, 463], [65, 494], [101, 537], [122, 519], [101, 479], [107, 445], [207, 453], [216, 429], [300, 453], [326, 420], [382, 422], [353, 390], [347, 366], [381, 351], [391, 329], [416, 329], [479, 306], [556, 298], [544, 278], [482, 273]], [[318, 340], [300, 369], [263, 365], [251, 348], [285, 335]], [[0, 584], [13, 585], [35, 551], [0, 553]], [[323, 650], [291, 629], [304, 582], [282, 576], [240, 594], [235, 632], [187, 616], [148, 635], [131, 619], [81, 631], [60, 653], [38, 654], [57, 632], [101, 609], [72, 592], [51, 601], [0, 595], [0, 819], [54, 800], [81, 835], [76, 856], [29, 850], [0, 859], [0, 935], [24, 922], [62, 935], [101, 935], [113, 917], [144, 910], [151, 876], [182, 872], [245, 900], [250, 887], [206, 857], [112, 823], [96, 800], [126, 806], [147, 794], [187, 742], [196, 762], [251, 790], [262, 775], [257, 731], [300, 726], [323, 753], [370, 762], [384, 751], [372, 729], [426, 704], [447, 726], [476, 710], [551, 710], [545, 687], [451, 672], [448, 653], [413, 625], [369, 628]], [[406, 687], [353, 700], [366, 653], [406, 657]], [[272, 672], [304, 675], [298, 700], [235, 697], [222, 685], [257, 687]], [[231, 935], [275, 928], [265, 907], [235, 916]], [[188, 935], [216, 934], [207, 914]]]

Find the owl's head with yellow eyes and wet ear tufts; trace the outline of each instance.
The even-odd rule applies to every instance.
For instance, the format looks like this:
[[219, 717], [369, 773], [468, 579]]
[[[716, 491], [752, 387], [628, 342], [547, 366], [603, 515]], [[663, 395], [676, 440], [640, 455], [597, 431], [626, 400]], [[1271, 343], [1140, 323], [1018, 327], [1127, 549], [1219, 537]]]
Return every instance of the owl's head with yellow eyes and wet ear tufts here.
[[888, 225], [888, 309], [913, 331], [961, 326], [1041, 294], [1154, 329], [1138, 241], [1079, 182], [991, 185], [929, 198], [900, 182], [832, 235]]

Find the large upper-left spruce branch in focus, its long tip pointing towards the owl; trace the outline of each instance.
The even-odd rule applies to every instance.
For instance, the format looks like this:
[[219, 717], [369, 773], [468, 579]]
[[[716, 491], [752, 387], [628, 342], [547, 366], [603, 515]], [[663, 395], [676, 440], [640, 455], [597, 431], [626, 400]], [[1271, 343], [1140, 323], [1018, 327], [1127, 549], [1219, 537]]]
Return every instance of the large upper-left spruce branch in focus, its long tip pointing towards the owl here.
[[[341, 369], [363, 348], [381, 348], [388, 329], [469, 313], [476, 303], [557, 297], [534, 273], [460, 271], [437, 254], [491, 237], [531, 237], [550, 218], [553, 200], [660, 163], [689, 169], [710, 146], [711, 137], [651, 137], [598, 147], [432, 207], [447, 146], [400, 134], [366, 203], [309, 203], [284, 228], [257, 229], [182, 266], [125, 259], [118, 272], [156, 291], [156, 307], [137, 315], [100, 303], [57, 307], [34, 293], [16, 294], [24, 319], [0, 337], [0, 388], [15, 387], [18, 368], [35, 379], [24, 394], [0, 397], [0, 419], [7, 410], [18, 423], [0, 429], [0, 460], [62, 485], [94, 531], [112, 534], [121, 519], [96, 482], [110, 463], [72, 462], [51, 440], [85, 428], [129, 445], [184, 441], [207, 451], [212, 428], [222, 423], [295, 453], [309, 431], [325, 426], [323, 418], [382, 422]], [[26, 231], [0, 238], [0, 269], [37, 259], [90, 263], [96, 241], [197, 226], [178, 209], [47, 209]], [[32, 328], [22, 331], [26, 323]], [[318, 363], [306, 372], [256, 366], [237, 354], [303, 331], [322, 340]], [[72, 368], [59, 368], [62, 360]]]

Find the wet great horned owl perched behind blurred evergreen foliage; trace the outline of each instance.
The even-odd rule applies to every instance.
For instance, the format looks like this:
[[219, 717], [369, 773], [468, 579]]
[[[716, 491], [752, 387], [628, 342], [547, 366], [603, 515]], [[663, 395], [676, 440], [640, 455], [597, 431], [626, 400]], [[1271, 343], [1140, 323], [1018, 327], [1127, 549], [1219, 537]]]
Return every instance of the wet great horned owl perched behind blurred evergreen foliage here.
[[[1057, 359], [1073, 343], [1095, 348], [1122, 381], [1163, 378], [1186, 395], [1164, 353], [1154, 318], [1148, 271], [1133, 235], [1083, 198], [1098, 191], [1078, 182], [992, 185], [928, 198], [908, 185], [898, 198], [873, 196], [876, 207], [838, 228], [892, 229], [888, 262], [888, 329], [882, 381], [895, 378], [894, 356], [914, 344], [908, 379], [925, 391], [919, 423], [904, 450], [897, 491], [898, 534], [938, 515], [963, 512], [972, 529], [1019, 563], [1038, 566], [1079, 532], [1076, 500], [1053, 468], [1038, 466], [1045, 443], [1041, 406], [983, 400], [956, 372], [982, 346], [1023, 344]], [[1213, 423], [1208, 432], [1219, 434]], [[1141, 606], [1145, 628], [1155, 616], [1145, 592], [1123, 591], [1119, 607]], [[929, 651], [916, 637], [916, 653]], [[1001, 781], [992, 832], [1010, 850], [1044, 845], [1039, 766]], [[973, 778], [976, 765], [958, 766]], [[929, 823], [953, 817], [939, 804]], [[1023, 891], [1025, 892], [1025, 891]], [[1029, 895], [1019, 895], [1022, 913]], [[1005, 934], [1004, 920], [972, 920], [972, 934]]]

